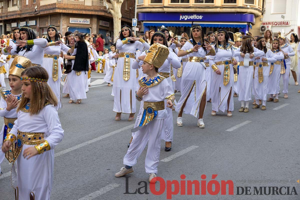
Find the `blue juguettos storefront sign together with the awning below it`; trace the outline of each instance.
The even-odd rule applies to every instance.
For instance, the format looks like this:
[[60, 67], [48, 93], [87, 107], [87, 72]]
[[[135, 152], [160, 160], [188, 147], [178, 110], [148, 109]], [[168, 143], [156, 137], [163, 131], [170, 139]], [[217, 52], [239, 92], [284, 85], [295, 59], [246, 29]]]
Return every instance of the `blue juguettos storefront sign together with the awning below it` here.
[[252, 28], [251, 24], [255, 24], [254, 14], [249, 13], [139, 13], [138, 17], [139, 21], [144, 22], [145, 31], [150, 26], [191, 27], [196, 23], [203, 27], [248, 31]]

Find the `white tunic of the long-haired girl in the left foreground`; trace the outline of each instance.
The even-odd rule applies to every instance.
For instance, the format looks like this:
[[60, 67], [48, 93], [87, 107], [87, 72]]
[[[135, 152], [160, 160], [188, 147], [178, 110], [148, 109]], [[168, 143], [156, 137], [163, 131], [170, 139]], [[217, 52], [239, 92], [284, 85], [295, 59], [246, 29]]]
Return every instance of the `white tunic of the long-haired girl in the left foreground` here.
[[50, 145], [49, 151], [28, 160], [24, 159], [23, 152], [34, 145], [23, 145], [17, 159], [19, 199], [29, 200], [29, 195], [33, 192], [35, 200], [49, 200], [53, 183], [54, 148], [64, 137], [56, 108], [50, 104], [46, 105], [36, 115], [19, 111], [18, 119], [10, 133], [17, 137], [18, 130], [27, 133], [44, 133], [44, 139]]

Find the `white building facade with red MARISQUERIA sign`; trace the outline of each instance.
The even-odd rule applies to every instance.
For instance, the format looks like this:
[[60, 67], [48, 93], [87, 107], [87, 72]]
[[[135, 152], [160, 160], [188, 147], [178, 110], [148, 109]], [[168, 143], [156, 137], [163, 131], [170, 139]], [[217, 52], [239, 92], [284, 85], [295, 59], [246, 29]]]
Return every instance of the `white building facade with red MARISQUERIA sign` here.
[[291, 29], [300, 34], [299, 0], [266, 0], [265, 4], [268, 9], [262, 18], [262, 30], [270, 29], [273, 36], [279, 31], [288, 33]]

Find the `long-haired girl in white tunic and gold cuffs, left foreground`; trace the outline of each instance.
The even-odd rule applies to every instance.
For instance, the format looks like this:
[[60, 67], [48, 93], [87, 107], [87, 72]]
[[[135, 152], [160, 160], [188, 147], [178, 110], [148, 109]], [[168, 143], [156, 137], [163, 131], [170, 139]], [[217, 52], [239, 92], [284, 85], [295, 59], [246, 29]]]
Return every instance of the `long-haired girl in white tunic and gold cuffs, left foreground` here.
[[2, 151], [7, 152], [16, 142], [16, 198], [49, 200], [54, 148], [64, 137], [55, 108], [57, 99], [47, 84], [49, 76], [43, 67], [29, 67], [21, 77], [23, 95], [18, 119], [4, 139]]

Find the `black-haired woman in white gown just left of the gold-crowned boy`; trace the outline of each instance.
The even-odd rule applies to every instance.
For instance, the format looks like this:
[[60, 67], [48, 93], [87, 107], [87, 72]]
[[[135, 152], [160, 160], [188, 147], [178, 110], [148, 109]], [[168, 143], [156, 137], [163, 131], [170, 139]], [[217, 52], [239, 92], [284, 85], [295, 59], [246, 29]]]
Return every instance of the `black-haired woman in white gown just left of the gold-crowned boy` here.
[[149, 44], [140, 37], [132, 37], [133, 34], [129, 26], [122, 26], [120, 39], [117, 40], [116, 48], [119, 50], [119, 59], [114, 73], [114, 107], [117, 112], [115, 120], [121, 120], [121, 113], [128, 113], [129, 121], [134, 120], [136, 111], [136, 99], [134, 98], [137, 79], [136, 70], [131, 66], [134, 62], [136, 49], [149, 49]]

